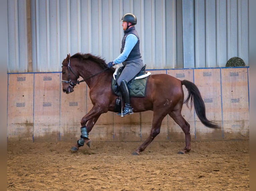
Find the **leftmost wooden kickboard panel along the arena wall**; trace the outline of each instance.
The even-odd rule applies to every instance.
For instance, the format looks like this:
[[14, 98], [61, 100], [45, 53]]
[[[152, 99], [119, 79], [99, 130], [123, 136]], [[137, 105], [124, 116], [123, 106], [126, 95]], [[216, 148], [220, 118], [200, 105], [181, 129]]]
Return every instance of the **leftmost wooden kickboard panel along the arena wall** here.
[[8, 138], [33, 137], [34, 74], [8, 74]]

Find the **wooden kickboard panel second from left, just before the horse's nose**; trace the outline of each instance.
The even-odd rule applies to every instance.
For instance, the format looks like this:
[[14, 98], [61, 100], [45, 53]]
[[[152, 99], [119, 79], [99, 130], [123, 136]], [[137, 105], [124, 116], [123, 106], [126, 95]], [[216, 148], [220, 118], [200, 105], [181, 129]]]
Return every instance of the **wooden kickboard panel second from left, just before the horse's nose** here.
[[58, 141], [60, 74], [38, 73], [34, 82], [34, 140]]

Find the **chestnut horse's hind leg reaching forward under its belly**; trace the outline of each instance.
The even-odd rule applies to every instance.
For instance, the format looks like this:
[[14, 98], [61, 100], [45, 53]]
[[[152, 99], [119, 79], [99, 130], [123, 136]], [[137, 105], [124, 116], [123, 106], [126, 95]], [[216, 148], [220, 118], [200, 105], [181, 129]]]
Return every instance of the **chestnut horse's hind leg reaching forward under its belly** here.
[[133, 155], [139, 155], [140, 152], [144, 151], [145, 148], [154, 140], [156, 135], [158, 135], [160, 133], [161, 124], [162, 124], [163, 118], [166, 115], [159, 115], [159, 114], [155, 115], [155, 113], [157, 113], [157, 112], [154, 112], [152, 128], [151, 128], [149, 137], [143, 142], [142, 145], [140, 145], [137, 148], [136, 151], [134, 151], [132, 153]]

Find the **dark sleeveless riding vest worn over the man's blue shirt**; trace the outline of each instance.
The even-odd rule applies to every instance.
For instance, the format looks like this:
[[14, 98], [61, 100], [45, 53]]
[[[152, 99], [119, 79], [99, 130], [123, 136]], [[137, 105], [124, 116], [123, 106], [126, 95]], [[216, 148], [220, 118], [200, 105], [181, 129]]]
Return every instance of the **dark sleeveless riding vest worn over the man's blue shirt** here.
[[126, 39], [127, 35], [129, 35], [129, 34], [134, 34], [138, 38], [138, 42], [135, 44], [135, 46], [133, 47], [132, 51], [130, 52], [130, 54], [128, 55], [128, 57], [127, 57], [127, 59], [125, 61], [130, 61], [130, 60], [135, 60], [135, 59], [141, 58], [141, 54], [140, 54], [140, 38], [139, 38], [139, 35], [138, 35], [137, 31], [135, 30], [135, 27], [131, 27], [131, 28], [129, 28], [129, 29], [124, 31], [124, 37], [123, 37], [123, 40], [122, 40], [121, 53], [124, 50], [125, 39]]

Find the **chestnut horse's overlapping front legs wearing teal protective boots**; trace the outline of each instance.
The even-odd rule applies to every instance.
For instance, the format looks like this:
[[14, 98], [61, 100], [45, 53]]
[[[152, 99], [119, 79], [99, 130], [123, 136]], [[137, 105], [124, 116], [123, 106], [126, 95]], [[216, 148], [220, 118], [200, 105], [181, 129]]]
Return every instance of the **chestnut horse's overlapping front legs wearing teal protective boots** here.
[[[88, 138], [89, 132], [92, 130], [94, 124], [100, 117], [101, 113], [95, 113], [95, 111], [92, 109], [90, 112], [88, 112], [81, 120], [81, 136], [80, 139], [77, 141], [77, 143], [71, 148], [72, 151], [78, 151], [79, 147], [84, 146], [84, 143], [87, 144], [87, 146], [91, 146], [91, 139]], [[92, 118], [93, 117], [93, 118]], [[87, 123], [87, 125], [86, 125]]]

